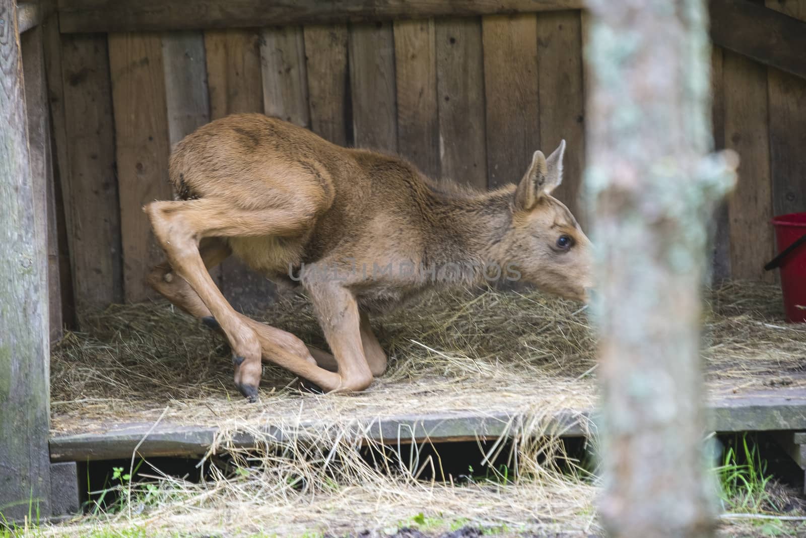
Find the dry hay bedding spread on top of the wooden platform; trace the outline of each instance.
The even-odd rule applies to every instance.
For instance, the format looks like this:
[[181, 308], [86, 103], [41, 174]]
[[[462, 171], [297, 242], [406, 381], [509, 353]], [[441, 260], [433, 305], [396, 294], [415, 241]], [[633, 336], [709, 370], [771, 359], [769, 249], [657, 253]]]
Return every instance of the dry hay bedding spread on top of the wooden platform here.
[[[729, 283], [710, 292], [704, 364], [714, 388], [804, 384], [806, 329], [783, 322], [779, 289]], [[345, 416], [476, 409], [512, 410], [536, 400], [583, 410], [595, 403], [596, 342], [580, 304], [538, 292], [457, 292], [373, 320], [389, 370], [360, 395], [317, 397], [293, 375], [266, 365], [261, 403], [232, 386], [226, 342], [170, 304], [113, 305], [85, 316], [52, 351], [52, 428], [88, 420], [221, 424], [269, 416], [338, 421]], [[304, 297], [277, 302], [261, 317], [324, 346]]]

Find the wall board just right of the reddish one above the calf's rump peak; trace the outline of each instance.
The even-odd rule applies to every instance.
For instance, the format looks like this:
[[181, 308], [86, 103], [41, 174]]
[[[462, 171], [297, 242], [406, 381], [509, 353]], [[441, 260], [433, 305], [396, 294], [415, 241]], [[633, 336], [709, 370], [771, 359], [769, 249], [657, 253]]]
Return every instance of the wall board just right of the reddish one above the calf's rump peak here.
[[260, 64], [265, 113], [301, 127], [310, 126], [302, 28], [264, 28]]

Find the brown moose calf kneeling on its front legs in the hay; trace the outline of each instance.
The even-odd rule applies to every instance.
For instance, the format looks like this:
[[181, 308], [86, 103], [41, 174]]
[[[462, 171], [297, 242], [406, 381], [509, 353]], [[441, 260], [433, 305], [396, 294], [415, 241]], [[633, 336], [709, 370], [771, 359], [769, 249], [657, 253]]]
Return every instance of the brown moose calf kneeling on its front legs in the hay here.
[[[368, 314], [427, 288], [521, 278], [585, 299], [590, 242], [551, 197], [564, 150], [563, 141], [548, 159], [536, 151], [519, 184], [477, 192], [276, 118], [222, 118], [174, 148], [178, 200], [143, 208], [168, 256], [149, 282], [226, 335], [235, 386], [250, 401], [261, 358], [324, 391], [361, 391], [386, 368]], [[305, 289], [332, 355], [226, 302], [207, 270], [233, 254]]]

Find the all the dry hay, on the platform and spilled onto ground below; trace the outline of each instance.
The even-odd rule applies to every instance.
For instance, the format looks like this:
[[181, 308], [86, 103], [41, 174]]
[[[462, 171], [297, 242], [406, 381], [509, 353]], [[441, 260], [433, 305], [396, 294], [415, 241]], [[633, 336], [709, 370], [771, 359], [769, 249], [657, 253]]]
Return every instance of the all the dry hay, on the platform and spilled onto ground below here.
[[[280, 300], [261, 319], [324, 345], [302, 297]], [[390, 362], [368, 391], [301, 393], [292, 375], [267, 365], [260, 403], [248, 405], [232, 387], [222, 338], [168, 304], [114, 305], [84, 317], [85, 332], [69, 333], [52, 351], [52, 428], [81, 432], [163, 415], [164, 422], [214, 425], [214, 450], [232, 449], [239, 468], [248, 468], [216, 470], [201, 485], [163, 477], [154, 494], [160, 502], [145, 503], [132, 519], [115, 516], [117, 525], [300, 536], [310, 529], [377, 531], [423, 512], [443, 527], [463, 518], [510, 531], [597, 532], [595, 486], [573, 465], [559, 470], [565, 457], [556, 437], [534, 441], [544, 417], [596, 402], [596, 341], [585, 308], [538, 292], [456, 292], [428, 296], [373, 325]], [[806, 385], [804, 354], [806, 329], [783, 323], [777, 287], [728, 283], [708, 293], [704, 365], [712, 390]], [[513, 432], [516, 482], [424, 483], [418, 473], [438, 461], [401, 466], [381, 458], [370, 466], [357, 456], [366, 440], [350, 428], [355, 420], [459, 409], [525, 417], [513, 425], [520, 428]], [[266, 440], [257, 453], [231, 444], [237, 431], [260, 439], [265, 424], [293, 432], [311, 419], [322, 421], [320, 442]], [[93, 525], [98, 521], [52, 532], [80, 536]]]

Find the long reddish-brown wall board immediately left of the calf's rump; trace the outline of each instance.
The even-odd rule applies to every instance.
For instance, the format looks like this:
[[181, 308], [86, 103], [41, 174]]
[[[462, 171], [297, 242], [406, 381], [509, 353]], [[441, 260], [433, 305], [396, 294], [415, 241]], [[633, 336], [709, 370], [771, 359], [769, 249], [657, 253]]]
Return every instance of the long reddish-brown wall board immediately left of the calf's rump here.
[[155, 296], [148, 271], [164, 259], [143, 205], [170, 200], [168, 118], [162, 42], [155, 33], [109, 35], [117, 140], [123, 291], [136, 302]]

